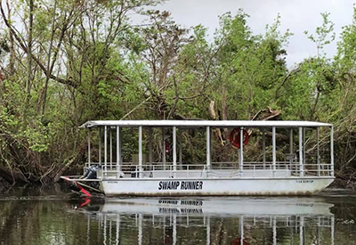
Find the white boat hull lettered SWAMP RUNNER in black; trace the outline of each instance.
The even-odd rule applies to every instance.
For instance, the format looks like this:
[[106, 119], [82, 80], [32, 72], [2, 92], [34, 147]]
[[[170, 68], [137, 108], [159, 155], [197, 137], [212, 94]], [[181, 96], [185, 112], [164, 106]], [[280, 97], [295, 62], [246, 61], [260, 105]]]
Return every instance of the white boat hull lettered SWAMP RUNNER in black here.
[[312, 195], [325, 189], [334, 177], [108, 179], [107, 196], [279, 196]]

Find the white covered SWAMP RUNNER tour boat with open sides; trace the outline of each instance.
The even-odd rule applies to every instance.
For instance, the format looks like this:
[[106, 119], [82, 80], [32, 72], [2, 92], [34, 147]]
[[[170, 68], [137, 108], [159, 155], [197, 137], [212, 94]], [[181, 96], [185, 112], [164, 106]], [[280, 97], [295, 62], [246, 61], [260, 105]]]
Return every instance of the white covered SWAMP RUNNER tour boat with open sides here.
[[[312, 195], [326, 188], [335, 178], [333, 126], [328, 123], [97, 120], [88, 121], [81, 127], [88, 130], [85, 175], [61, 178], [87, 195], [91, 191], [107, 196]], [[99, 134], [91, 136], [95, 129]], [[231, 131], [231, 145], [225, 147], [234, 147], [238, 151], [238, 157], [232, 162], [212, 161], [212, 135], [218, 135], [222, 129]], [[185, 130], [204, 134], [204, 164], [192, 164], [190, 159], [183, 159], [182, 132]], [[123, 142], [123, 135], [126, 142]], [[161, 139], [158, 140], [157, 135], [161, 135]], [[130, 148], [130, 152], [136, 153], [130, 162], [123, 161], [123, 145], [128, 151], [127, 138], [130, 142], [138, 139], [137, 151], [134, 151], [134, 145]], [[162, 151], [156, 160], [154, 141], [156, 149], [159, 142]], [[255, 148], [261, 148], [254, 158], [261, 156], [260, 160], [244, 159], [247, 143], [255, 143]], [[99, 149], [94, 151], [92, 145]], [[93, 161], [92, 155], [97, 160]], [[171, 160], [168, 162], [168, 159]]]

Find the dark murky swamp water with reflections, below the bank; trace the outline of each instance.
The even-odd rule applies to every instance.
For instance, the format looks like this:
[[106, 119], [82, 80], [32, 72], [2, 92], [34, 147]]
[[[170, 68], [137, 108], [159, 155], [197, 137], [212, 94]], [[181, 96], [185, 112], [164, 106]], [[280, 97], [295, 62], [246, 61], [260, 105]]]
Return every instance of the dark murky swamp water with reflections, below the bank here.
[[73, 198], [0, 194], [0, 244], [356, 244], [356, 193], [312, 198]]

